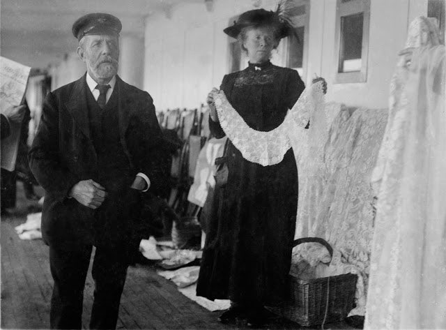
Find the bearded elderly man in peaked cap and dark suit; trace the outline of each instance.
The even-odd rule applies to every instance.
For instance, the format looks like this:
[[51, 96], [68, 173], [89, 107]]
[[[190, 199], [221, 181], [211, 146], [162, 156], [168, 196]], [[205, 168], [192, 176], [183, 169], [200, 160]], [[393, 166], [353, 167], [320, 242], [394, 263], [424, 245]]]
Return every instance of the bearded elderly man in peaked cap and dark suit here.
[[87, 269], [95, 246], [91, 329], [114, 329], [136, 248], [141, 194], [163, 184], [162, 135], [151, 96], [116, 75], [118, 18], [94, 13], [72, 32], [86, 74], [47, 95], [29, 151], [45, 188], [43, 239], [54, 278], [50, 326], [81, 329]]

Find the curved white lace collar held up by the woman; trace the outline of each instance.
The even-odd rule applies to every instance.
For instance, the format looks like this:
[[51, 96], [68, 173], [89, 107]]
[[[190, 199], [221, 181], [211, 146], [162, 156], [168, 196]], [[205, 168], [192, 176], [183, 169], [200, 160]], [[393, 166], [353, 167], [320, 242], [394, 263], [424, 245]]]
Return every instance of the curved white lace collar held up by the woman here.
[[311, 114], [322, 109], [322, 82], [312, 84], [289, 110], [284, 121], [274, 130], [261, 132], [250, 128], [245, 120], [231, 106], [223, 91], [215, 95], [215, 107], [220, 126], [232, 144], [246, 160], [262, 166], [280, 163], [286, 151], [291, 148], [289, 132], [297, 126], [305, 128]]

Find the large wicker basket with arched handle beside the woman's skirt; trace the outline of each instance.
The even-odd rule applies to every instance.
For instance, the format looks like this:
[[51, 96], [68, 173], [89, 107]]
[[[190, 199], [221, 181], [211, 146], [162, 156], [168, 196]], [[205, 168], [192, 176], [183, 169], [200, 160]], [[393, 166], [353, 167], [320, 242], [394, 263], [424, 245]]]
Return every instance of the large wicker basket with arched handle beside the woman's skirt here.
[[[314, 241], [326, 246], [332, 255], [331, 246], [319, 238], [297, 239], [294, 246]], [[357, 275], [351, 273], [312, 280], [290, 275], [290, 301], [271, 309], [305, 327], [343, 321], [355, 306], [356, 281]]]

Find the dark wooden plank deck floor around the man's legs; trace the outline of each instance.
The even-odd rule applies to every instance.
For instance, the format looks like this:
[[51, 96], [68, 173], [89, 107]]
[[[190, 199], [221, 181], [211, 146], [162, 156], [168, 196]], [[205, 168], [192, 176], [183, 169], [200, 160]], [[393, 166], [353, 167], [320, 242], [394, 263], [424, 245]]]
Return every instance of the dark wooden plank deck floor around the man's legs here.
[[[22, 190], [18, 189], [20, 193]], [[22, 241], [14, 227], [26, 220], [26, 204], [18, 198], [12, 216], [1, 218], [1, 329], [48, 329], [52, 277], [48, 248], [43, 241]], [[84, 292], [82, 324], [88, 329], [93, 302], [91, 271]], [[217, 322], [220, 312], [209, 312], [180, 294], [173, 283], [158, 276], [150, 265], [128, 269], [119, 311], [118, 329], [238, 329]], [[275, 320], [268, 329], [300, 329]], [[353, 329], [326, 324], [325, 329]]]

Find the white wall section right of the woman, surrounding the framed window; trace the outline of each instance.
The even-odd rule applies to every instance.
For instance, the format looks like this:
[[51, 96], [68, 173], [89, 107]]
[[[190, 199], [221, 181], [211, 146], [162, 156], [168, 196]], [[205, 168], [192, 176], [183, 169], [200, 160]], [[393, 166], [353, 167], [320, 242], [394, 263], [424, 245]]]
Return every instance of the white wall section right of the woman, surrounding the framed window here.
[[316, 17], [323, 17], [317, 20], [323, 22], [319, 24], [323, 26], [323, 42], [314, 43], [309, 49], [309, 72], [321, 72], [327, 79], [329, 100], [364, 107], [387, 107], [390, 78], [397, 53], [406, 42], [408, 22], [426, 12], [427, 1], [424, 0], [371, 0], [367, 82], [332, 84], [337, 68], [334, 63], [336, 0], [312, 0], [310, 38], [320, 38], [321, 27], [314, 25], [317, 25]]

